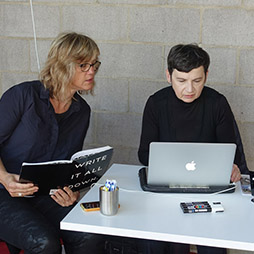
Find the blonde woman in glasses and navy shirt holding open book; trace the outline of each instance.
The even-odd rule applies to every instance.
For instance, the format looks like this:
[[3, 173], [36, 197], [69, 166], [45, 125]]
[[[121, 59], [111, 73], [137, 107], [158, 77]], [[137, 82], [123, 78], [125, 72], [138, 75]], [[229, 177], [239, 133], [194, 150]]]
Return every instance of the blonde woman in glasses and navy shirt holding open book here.
[[0, 239], [25, 253], [61, 253], [60, 238], [66, 253], [100, 253], [97, 236], [60, 230], [78, 192], [36, 196], [37, 186], [18, 181], [23, 161], [69, 159], [82, 149], [91, 109], [78, 92], [92, 92], [99, 54], [91, 38], [60, 34], [40, 80], [13, 86], [0, 100]]

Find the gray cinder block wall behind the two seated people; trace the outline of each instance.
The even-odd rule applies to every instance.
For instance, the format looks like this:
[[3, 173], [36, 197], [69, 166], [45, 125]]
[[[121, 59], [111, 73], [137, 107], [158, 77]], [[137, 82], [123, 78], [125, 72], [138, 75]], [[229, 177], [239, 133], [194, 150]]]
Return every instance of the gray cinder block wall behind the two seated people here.
[[[228, 98], [254, 170], [253, 0], [34, 0], [40, 64], [62, 31], [91, 36], [102, 66], [85, 147], [111, 145], [113, 162], [137, 164], [141, 116], [150, 94], [167, 85], [166, 56], [199, 43], [211, 56], [208, 85]], [[36, 79], [28, 0], [0, 1], [0, 94]]]

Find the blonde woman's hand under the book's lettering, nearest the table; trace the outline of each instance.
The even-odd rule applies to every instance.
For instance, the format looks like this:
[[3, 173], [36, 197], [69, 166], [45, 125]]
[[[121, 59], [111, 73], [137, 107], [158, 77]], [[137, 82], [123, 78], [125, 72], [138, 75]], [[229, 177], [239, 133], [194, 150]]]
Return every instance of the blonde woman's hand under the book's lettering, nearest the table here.
[[79, 198], [79, 191], [73, 192], [69, 187], [64, 187], [51, 195], [51, 198], [61, 206], [70, 206]]

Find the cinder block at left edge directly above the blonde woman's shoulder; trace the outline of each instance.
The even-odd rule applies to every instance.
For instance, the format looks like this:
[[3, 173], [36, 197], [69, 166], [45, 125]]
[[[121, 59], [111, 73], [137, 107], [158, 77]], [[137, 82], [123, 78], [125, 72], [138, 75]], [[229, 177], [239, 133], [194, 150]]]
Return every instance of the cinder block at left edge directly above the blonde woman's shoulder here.
[[4, 72], [2, 74], [2, 92], [5, 92], [10, 87], [20, 84], [24, 81], [36, 79], [38, 79], [38, 76], [34, 73], [29, 74], [29, 73]]

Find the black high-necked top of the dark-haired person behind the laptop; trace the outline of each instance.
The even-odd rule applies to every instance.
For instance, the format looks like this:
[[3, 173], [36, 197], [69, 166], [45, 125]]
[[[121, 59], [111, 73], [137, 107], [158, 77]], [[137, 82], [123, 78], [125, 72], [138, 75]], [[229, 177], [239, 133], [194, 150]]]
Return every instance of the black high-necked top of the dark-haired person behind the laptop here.
[[[178, 99], [172, 86], [159, 90], [149, 97], [144, 109], [138, 151], [142, 164], [148, 165], [149, 145], [155, 141], [236, 143], [227, 99], [209, 87], [191, 103]], [[237, 152], [236, 163], [238, 160]]]

